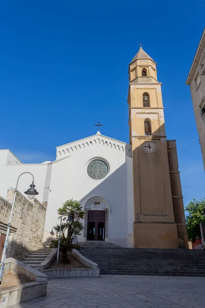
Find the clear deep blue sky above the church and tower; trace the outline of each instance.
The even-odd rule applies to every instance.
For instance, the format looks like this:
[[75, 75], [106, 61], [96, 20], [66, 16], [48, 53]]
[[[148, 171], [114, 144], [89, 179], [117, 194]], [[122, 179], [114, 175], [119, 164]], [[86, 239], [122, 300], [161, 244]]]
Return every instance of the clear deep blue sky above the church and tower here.
[[185, 205], [205, 197], [185, 85], [204, 10], [203, 0], [2, 2], [0, 148], [25, 163], [54, 160], [56, 146], [95, 134], [97, 121], [101, 133], [129, 142], [128, 65], [141, 42], [157, 62]]

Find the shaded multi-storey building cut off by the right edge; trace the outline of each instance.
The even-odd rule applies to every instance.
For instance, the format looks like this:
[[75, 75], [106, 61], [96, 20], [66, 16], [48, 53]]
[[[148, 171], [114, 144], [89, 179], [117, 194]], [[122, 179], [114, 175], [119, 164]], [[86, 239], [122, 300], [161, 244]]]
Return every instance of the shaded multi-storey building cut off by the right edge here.
[[205, 29], [194, 56], [186, 84], [190, 86], [191, 90], [205, 170]]

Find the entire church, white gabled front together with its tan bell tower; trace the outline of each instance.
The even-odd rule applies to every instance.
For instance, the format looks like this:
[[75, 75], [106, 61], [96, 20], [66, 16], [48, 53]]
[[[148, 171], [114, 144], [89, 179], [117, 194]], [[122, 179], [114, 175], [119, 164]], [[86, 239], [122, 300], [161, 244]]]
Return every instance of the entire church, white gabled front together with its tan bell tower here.
[[[38, 200], [47, 203], [44, 241], [59, 224], [57, 209], [78, 200], [85, 211], [77, 240], [123, 247], [188, 248], [175, 140], [167, 140], [156, 63], [141, 48], [129, 65], [130, 144], [99, 131], [56, 148], [56, 160], [23, 164], [0, 151], [0, 196], [18, 175], [35, 177]], [[19, 190], [30, 182], [24, 175]]]

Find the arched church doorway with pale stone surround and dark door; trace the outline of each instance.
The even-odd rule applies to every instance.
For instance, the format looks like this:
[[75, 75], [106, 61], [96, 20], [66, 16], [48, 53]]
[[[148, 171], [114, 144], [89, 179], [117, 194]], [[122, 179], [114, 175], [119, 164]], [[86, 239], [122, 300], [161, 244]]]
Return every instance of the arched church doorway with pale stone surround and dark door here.
[[108, 217], [110, 205], [101, 197], [89, 199], [85, 206], [84, 238], [87, 241], [106, 241], [108, 239]]

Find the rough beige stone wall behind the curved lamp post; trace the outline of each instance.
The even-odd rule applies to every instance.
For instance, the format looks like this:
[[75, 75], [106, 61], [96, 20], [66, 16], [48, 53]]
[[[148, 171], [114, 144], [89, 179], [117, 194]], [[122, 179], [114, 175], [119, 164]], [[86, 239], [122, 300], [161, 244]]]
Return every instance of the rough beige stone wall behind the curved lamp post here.
[[[6, 234], [13, 197], [14, 189], [8, 190], [7, 200], [0, 197], [0, 227], [3, 234]], [[29, 252], [42, 247], [46, 206], [37, 199], [28, 200], [17, 191], [7, 257], [22, 260]]]

